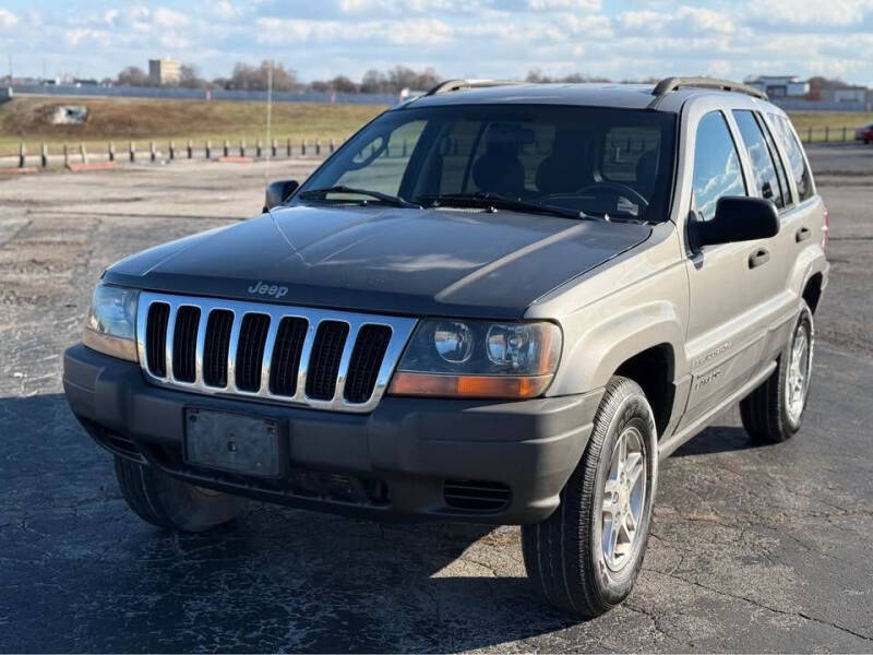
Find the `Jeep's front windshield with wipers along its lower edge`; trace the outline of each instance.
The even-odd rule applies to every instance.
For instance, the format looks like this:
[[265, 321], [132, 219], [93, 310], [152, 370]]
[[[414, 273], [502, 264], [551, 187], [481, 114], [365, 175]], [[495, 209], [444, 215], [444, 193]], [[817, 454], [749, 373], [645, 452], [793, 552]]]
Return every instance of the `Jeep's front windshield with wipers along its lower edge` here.
[[395, 204], [451, 207], [466, 198], [502, 198], [661, 222], [669, 210], [674, 126], [673, 115], [631, 109], [412, 106], [387, 111], [356, 134], [294, 202], [391, 196]]

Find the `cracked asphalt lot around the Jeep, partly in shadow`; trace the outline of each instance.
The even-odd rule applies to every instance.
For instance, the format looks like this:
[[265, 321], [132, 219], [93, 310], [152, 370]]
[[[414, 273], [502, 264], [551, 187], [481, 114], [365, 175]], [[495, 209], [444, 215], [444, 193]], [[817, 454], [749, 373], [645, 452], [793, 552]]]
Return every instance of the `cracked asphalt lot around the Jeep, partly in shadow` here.
[[731, 410], [678, 451], [634, 593], [585, 623], [533, 595], [515, 527], [136, 519], [60, 354], [107, 264], [255, 214], [265, 166], [0, 179], [0, 651], [873, 651], [873, 147], [810, 155], [833, 270], [804, 427], [753, 446]]

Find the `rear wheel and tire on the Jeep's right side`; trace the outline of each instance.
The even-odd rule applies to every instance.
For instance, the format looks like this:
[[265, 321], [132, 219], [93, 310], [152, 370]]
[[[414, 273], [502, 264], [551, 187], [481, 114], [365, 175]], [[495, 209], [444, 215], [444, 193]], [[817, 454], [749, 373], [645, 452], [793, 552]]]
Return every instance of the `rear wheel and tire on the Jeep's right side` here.
[[[808, 356], [796, 361], [796, 347], [799, 347], [799, 343], [803, 340], [806, 343]], [[803, 302], [791, 331], [791, 338], [779, 355], [776, 370], [761, 386], [740, 402], [743, 427], [753, 441], [779, 443], [790, 439], [800, 430], [806, 409], [806, 398], [810, 395], [814, 344], [812, 311], [806, 302]], [[796, 368], [792, 368], [794, 366]], [[798, 371], [803, 374], [799, 388], [796, 378]]]

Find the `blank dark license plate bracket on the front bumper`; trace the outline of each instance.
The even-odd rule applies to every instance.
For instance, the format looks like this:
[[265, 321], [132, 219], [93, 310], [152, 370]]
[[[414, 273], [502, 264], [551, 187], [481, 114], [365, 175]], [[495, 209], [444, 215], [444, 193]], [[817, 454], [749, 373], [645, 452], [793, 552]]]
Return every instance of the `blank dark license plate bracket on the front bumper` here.
[[267, 478], [283, 474], [277, 420], [186, 407], [184, 426], [188, 464]]

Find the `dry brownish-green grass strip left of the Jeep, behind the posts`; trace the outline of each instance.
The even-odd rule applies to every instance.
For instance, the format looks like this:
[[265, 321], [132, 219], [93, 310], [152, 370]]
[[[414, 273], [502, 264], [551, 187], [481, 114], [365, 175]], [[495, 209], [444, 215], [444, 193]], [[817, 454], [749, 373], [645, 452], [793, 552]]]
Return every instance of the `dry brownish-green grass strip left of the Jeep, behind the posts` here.
[[[79, 126], [51, 124], [55, 109], [62, 105], [84, 105], [87, 121]], [[276, 103], [273, 105], [272, 134], [280, 143], [291, 138], [297, 147], [301, 140], [342, 141], [376, 116], [385, 107], [379, 105], [320, 105], [314, 103]], [[236, 145], [244, 139], [249, 146], [264, 140], [266, 104], [168, 99], [108, 99], [20, 97], [0, 104], [0, 155], [17, 153], [24, 142], [28, 154], [37, 154], [41, 142], [50, 152], [59, 152], [63, 143], [77, 147], [84, 142], [89, 151], [105, 151], [108, 141], [123, 147], [129, 140], [137, 150], [157, 141], [166, 147], [175, 140], [181, 148], [188, 139], [199, 145], [210, 139], [213, 147], [224, 139]]]

